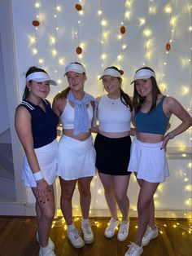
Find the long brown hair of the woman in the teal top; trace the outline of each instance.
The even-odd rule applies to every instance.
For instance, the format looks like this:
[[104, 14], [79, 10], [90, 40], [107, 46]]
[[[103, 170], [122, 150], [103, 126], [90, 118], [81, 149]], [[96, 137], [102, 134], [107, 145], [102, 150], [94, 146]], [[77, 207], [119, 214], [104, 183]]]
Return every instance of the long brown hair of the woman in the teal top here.
[[[139, 68], [139, 69], [137, 69], [137, 71], [139, 71], [141, 69], [148, 69], [148, 70], [151, 70], [152, 72], [154, 72], [154, 70], [149, 67]], [[135, 73], [137, 73], [137, 71]], [[151, 82], [152, 82], [152, 104], [151, 104], [150, 112], [155, 109], [158, 95], [159, 94], [161, 95], [161, 91], [157, 85], [155, 77], [151, 77]], [[145, 97], [142, 97], [141, 95], [139, 95], [137, 93], [137, 89], [136, 89], [135, 82], [134, 82], [133, 108], [134, 108], [135, 113], [137, 113], [139, 111], [139, 109], [142, 108], [142, 103], [144, 100], [145, 100]]]

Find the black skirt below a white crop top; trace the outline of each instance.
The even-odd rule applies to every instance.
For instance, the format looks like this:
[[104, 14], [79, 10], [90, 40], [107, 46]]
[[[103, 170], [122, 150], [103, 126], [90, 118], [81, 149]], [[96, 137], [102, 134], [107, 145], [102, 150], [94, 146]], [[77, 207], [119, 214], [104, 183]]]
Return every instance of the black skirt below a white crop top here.
[[111, 175], [129, 175], [131, 138], [107, 138], [98, 134], [94, 141], [96, 167], [100, 173]]

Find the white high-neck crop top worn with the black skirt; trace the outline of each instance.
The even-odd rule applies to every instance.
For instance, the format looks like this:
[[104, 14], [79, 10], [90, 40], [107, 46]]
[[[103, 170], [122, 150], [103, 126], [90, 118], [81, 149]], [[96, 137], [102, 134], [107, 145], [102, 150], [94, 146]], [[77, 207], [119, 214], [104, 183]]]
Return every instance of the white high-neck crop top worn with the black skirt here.
[[98, 129], [105, 132], [124, 132], [130, 130], [131, 113], [119, 99], [103, 95], [98, 104]]

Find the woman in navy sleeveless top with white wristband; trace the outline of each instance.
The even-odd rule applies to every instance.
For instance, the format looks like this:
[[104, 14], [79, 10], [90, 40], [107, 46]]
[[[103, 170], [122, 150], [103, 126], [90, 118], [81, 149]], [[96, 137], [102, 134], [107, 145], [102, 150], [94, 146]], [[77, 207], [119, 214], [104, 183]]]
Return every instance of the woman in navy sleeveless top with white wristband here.
[[36, 198], [40, 256], [55, 255], [55, 245], [49, 234], [55, 216], [53, 183], [56, 176], [59, 118], [45, 99], [50, 92], [50, 84], [56, 85], [44, 69], [28, 68], [23, 100], [15, 111], [15, 130], [25, 152], [24, 185], [32, 188]]

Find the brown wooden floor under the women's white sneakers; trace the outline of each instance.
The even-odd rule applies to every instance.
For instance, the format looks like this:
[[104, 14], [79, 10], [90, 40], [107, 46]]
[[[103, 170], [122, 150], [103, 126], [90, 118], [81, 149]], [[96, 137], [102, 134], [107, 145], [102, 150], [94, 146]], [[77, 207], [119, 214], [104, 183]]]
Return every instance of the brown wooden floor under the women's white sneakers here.
[[[130, 219], [128, 239], [117, 241], [116, 236], [107, 239], [103, 236], [109, 218], [92, 218], [94, 243], [81, 249], [74, 249], [66, 236], [66, 226], [56, 219], [50, 237], [55, 242], [57, 256], [124, 256], [129, 241], [133, 241], [137, 230], [137, 218]], [[191, 256], [191, 221], [157, 218], [159, 236], [144, 248], [143, 256]], [[81, 220], [75, 219], [81, 232]], [[37, 256], [39, 245], [35, 239], [36, 218], [0, 217], [0, 255]]]

